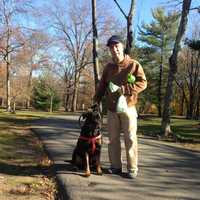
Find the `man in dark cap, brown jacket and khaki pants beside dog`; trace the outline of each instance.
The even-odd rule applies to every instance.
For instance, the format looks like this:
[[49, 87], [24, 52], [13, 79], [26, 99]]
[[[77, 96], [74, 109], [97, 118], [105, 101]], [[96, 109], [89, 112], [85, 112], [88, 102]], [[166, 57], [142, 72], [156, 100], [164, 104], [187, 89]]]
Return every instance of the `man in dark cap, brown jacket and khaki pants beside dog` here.
[[[108, 109], [108, 154], [111, 162], [109, 172], [122, 172], [120, 133], [124, 133], [127, 176], [135, 178], [138, 173], [137, 147], [137, 103], [138, 93], [147, 87], [147, 81], [141, 65], [124, 54], [123, 39], [113, 35], [107, 41], [112, 56], [103, 71], [94, 101], [99, 103], [106, 96]], [[119, 109], [120, 100], [125, 99], [124, 109]]]

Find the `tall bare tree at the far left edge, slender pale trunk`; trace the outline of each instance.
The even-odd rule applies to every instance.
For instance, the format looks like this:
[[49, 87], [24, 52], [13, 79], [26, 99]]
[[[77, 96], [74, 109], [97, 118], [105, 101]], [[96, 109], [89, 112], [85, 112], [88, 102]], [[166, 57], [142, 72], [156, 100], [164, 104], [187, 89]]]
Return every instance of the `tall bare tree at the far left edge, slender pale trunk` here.
[[20, 27], [14, 23], [17, 14], [25, 11], [23, 3], [13, 0], [0, 1], [0, 54], [6, 63], [7, 111], [11, 111], [11, 55], [24, 44]]

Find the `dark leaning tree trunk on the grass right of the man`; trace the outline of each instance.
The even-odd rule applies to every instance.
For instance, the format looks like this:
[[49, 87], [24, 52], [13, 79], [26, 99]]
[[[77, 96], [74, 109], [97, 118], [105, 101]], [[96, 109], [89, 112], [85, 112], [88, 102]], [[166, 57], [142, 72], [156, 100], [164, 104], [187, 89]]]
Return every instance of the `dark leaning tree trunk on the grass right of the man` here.
[[178, 52], [180, 50], [180, 42], [185, 33], [190, 5], [191, 5], [191, 0], [183, 1], [181, 21], [176, 35], [173, 52], [169, 58], [169, 74], [168, 74], [168, 82], [164, 98], [164, 110], [161, 123], [161, 135], [166, 137], [168, 137], [171, 134], [170, 103], [172, 101], [172, 96], [173, 96], [173, 82], [175, 80], [175, 74], [177, 72], [177, 57], [178, 57]]

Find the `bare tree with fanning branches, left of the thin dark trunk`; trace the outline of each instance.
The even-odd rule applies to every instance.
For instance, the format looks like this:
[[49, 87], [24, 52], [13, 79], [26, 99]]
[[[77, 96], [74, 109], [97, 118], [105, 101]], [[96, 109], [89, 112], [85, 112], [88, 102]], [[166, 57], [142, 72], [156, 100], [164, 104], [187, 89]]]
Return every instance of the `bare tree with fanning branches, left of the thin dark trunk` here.
[[[91, 60], [91, 33], [92, 28], [88, 20], [89, 8], [86, 4], [73, 2], [69, 7], [67, 21], [61, 12], [54, 12], [54, 28], [59, 33], [58, 39], [64, 44], [74, 66], [73, 97], [71, 110], [76, 110], [78, 88], [82, 70], [92, 64]], [[79, 13], [79, 15], [77, 15]], [[68, 23], [67, 23], [68, 22]]]

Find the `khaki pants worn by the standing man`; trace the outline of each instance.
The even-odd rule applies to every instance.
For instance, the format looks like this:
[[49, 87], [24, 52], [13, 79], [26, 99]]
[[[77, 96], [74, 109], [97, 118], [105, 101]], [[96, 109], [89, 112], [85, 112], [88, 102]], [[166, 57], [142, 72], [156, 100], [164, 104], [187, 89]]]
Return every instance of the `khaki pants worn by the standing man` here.
[[111, 167], [122, 168], [120, 133], [124, 133], [127, 170], [138, 170], [137, 111], [129, 107], [127, 113], [108, 111], [108, 154]]

